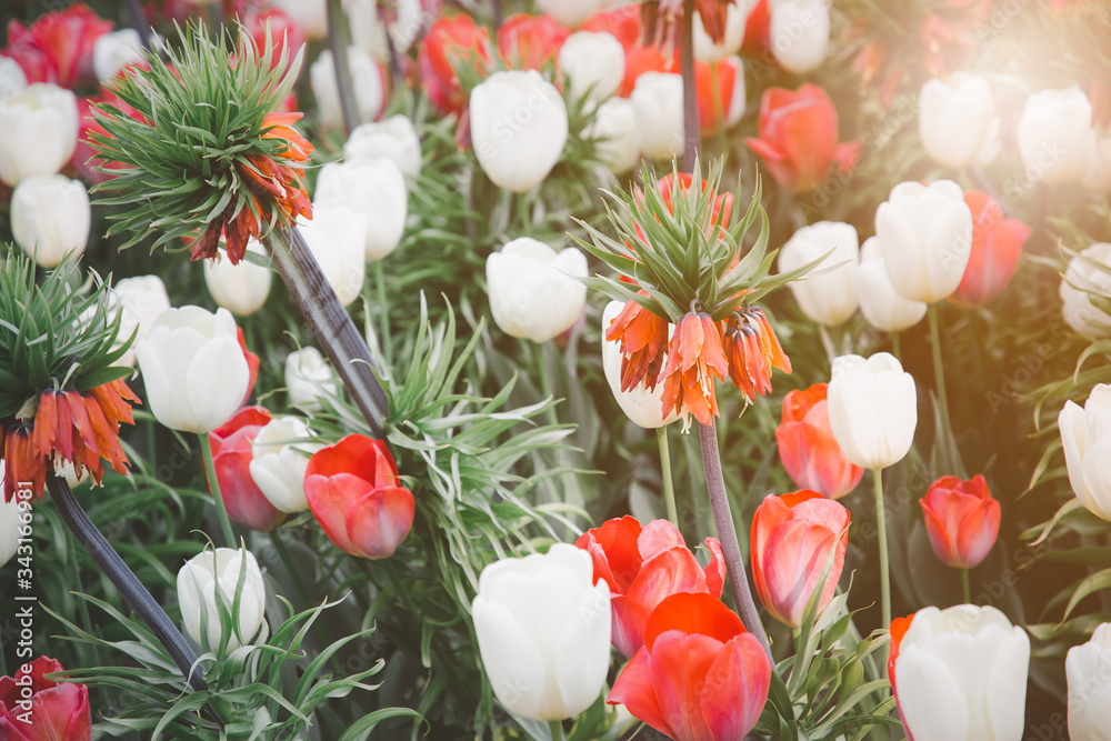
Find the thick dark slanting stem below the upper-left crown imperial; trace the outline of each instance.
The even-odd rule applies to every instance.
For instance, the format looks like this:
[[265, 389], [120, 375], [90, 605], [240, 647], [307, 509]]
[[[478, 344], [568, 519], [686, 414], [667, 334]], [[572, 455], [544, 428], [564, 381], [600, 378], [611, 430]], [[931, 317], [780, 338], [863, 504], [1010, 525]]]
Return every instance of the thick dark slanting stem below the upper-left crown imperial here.
[[[374, 437], [382, 438], [389, 401], [374, 375], [370, 348], [320, 271], [304, 238], [296, 227], [274, 229], [264, 244], [320, 349], [331, 360]], [[386, 343], [384, 338], [381, 341]]]

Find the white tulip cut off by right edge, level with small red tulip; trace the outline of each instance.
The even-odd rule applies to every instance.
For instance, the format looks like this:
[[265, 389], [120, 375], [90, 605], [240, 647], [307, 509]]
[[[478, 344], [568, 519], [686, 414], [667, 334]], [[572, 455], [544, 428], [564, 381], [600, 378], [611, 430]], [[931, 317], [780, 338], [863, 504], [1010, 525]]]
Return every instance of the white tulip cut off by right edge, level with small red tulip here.
[[1097, 384], [1083, 409], [1064, 402], [1057, 422], [1072, 492], [1092, 514], [1111, 521], [1111, 385]]

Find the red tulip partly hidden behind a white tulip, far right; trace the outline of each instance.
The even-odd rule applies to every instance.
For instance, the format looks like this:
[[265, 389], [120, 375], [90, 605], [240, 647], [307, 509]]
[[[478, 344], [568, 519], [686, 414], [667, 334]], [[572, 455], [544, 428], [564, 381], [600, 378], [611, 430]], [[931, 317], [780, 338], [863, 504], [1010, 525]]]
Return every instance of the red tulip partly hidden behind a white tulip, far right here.
[[979, 307], [1007, 288], [1019, 267], [1022, 246], [1030, 238], [1030, 227], [1018, 219], [1005, 219], [995, 199], [979, 190], [964, 191], [964, 202], [972, 211], [972, 254], [950, 300]]

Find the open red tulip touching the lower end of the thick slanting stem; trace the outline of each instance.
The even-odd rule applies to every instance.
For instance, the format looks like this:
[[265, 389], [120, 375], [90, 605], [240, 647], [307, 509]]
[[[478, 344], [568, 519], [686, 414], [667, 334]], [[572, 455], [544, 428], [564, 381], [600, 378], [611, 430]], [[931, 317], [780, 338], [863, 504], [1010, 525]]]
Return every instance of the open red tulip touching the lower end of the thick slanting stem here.
[[416, 501], [399, 485], [382, 440], [349, 434], [309, 459], [304, 497], [329, 540], [353, 555], [393, 555], [413, 524]]

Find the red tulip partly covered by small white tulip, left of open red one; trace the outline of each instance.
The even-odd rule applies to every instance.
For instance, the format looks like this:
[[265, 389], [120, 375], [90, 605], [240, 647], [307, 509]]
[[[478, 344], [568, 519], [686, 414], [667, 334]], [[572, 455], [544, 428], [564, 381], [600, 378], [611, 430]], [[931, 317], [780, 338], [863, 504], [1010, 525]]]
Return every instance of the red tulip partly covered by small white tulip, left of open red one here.
[[271, 419], [262, 407], [244, 407], [223, 427], [209, 432], [212, 465], [228, 517], [259, 532], [269, 532], [286, 519], [286, 513], [270, 503], [251, 477], [251, 441]]

